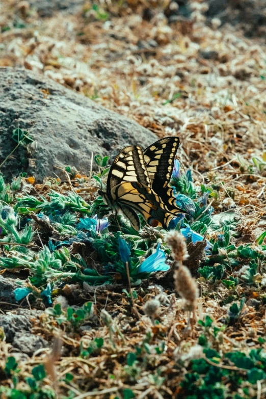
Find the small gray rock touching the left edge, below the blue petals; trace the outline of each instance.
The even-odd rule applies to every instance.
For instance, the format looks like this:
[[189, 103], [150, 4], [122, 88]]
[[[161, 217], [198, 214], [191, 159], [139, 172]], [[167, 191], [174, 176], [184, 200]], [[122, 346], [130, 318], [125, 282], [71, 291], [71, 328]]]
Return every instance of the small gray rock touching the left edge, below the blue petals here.
[[0, 314], [0, 327], [4, 329], [6, 341], [12, 343], [16, 333], [30, 332], [32, 324], [26, 316], [7, 313]]

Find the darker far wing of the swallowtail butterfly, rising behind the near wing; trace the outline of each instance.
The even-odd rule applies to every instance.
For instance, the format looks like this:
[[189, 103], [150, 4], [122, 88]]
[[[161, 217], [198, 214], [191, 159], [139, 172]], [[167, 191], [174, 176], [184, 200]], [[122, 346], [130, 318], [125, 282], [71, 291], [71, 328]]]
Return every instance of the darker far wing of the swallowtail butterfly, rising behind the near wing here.
[[165, 137], [143, 151], [151, 188], [173, 214], [180, 213], [175, 205], [174, 189], [169, 184], [179, 142], [179, 137]]

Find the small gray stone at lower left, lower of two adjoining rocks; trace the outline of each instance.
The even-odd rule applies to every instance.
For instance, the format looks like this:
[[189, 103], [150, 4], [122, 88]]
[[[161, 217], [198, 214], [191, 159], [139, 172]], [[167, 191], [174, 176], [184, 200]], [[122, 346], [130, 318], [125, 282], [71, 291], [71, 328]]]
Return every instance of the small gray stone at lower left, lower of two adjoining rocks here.
[[20, 352], [29, 356], [32, 356], [38, 349], [49, 347], [49, 343], [46, 339], [31, 333], [16, 333], [12, 344], [14, 348], [17, 348]]

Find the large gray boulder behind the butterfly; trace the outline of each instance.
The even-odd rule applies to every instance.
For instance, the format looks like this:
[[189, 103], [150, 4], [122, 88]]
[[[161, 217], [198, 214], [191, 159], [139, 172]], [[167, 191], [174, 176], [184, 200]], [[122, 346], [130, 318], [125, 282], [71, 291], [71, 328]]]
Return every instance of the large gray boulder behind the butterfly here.
[[157, 140], [138, 123], [29, 70], [0, 68], [0, 92], [0, 164], [15, 147], [17, 114], [23, 130], [37, 121], [30, 132], [36, 145], [20, 145], [2, 167], [8, 179], [25, 171], [41, 181], [53, 172], [60, 174], [54, 166], [66, 165], [88, 174], [91, 151], [114, 157], [126, 145], [145, 148]]

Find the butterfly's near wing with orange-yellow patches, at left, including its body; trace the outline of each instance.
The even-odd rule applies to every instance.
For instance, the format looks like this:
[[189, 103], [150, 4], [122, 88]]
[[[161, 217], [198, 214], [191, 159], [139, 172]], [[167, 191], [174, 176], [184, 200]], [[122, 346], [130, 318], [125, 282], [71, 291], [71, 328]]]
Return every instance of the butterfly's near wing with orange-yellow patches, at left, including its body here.
[[[99, 195], [116, 212], [121, 210], [137, 231], [140, 229], [137, 212], [153, 227], [167, 228], [175, 217], [153, 191], [143, 150], [137, 145], [120, 151], [109, 171], [106, 191], [99, 190]], [[187, 213], [178, 207], [175, 210]]]

